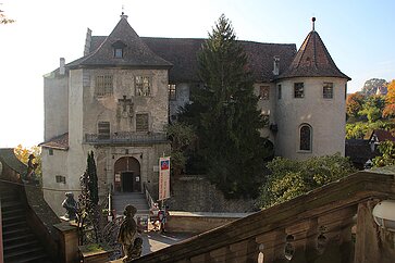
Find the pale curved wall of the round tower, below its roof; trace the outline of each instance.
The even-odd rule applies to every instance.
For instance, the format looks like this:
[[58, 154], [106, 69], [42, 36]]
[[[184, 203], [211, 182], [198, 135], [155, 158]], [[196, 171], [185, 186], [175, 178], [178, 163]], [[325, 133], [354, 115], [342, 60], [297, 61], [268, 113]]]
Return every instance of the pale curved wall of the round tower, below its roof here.
[[[294, 98], [294, 83], [305, 84], [305, 98]], [[323, 99], [323, 83], [333, 83], [333, 99]], [[346, 79], [333, 77], [284, 79], [282, 99], [276, 100], [275, 153], [304, 160], [313, 155], [345, 153], [345, 85]], [[299, 151], [299, 127], [312, 127], [312, 151]]]

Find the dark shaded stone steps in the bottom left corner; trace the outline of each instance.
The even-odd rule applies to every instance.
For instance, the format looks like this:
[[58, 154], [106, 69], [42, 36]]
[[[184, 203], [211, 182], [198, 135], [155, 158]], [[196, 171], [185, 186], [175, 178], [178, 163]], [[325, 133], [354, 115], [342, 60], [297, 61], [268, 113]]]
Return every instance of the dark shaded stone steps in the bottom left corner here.
[[26, 204], [17, 187], [0, 184], [4, 263], [49, 263], [42, 245], [27, 224]]

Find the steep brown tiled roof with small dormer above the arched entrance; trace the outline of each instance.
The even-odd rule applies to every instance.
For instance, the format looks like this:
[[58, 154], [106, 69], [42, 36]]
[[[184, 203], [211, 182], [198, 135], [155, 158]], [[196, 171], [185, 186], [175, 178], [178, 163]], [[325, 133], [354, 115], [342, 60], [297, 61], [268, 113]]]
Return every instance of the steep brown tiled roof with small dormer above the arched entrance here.
[[[83, 58], [79, 66], [125, 66], [138, 68], [170, 68], [172, 63], [153, 53], [121, 15], [112, 33], [100, 47]], [[123, 57], [114, 57], [114, 48], [123, 48]]]

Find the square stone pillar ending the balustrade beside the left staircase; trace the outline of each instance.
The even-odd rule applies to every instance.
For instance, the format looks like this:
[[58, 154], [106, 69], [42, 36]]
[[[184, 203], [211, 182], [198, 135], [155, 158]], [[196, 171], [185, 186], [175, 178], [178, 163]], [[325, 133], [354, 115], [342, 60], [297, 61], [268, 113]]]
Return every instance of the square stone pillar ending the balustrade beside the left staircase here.
[[78, 261], [78, 228], [69, 222], [53, 225], [58, 230], [59, 261], [62, 263], [74, 263]]

